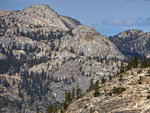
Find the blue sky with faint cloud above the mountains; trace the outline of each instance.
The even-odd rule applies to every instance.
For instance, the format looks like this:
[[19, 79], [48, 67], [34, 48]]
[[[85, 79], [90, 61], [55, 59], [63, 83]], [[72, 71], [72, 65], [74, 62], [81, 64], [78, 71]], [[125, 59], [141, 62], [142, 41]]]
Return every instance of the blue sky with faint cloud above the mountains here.
[[105, 36], [127, 29], [150, 32], [150, 0], [0, 0], [0, 9], [21, 10], [32, 4], [47, 4]]

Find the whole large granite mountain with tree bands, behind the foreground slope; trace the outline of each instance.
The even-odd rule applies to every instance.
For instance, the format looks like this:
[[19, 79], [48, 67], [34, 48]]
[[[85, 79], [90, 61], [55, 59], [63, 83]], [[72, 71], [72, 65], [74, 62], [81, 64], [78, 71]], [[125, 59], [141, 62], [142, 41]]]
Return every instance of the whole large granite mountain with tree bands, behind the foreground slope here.
[[109, 39], [47, 5], [0, 11], [0, 112], [45, 112], [65, 91], [117, 73], [124, 56]]

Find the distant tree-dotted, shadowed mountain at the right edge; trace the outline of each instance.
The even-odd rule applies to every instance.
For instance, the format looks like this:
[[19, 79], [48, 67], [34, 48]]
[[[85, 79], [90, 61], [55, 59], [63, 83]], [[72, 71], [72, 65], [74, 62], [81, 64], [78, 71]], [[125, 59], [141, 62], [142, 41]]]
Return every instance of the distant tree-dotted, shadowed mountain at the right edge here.
[[140, 30], [127, 30], [109, 39], [126, 56], [150, 57], [150, 33]]

